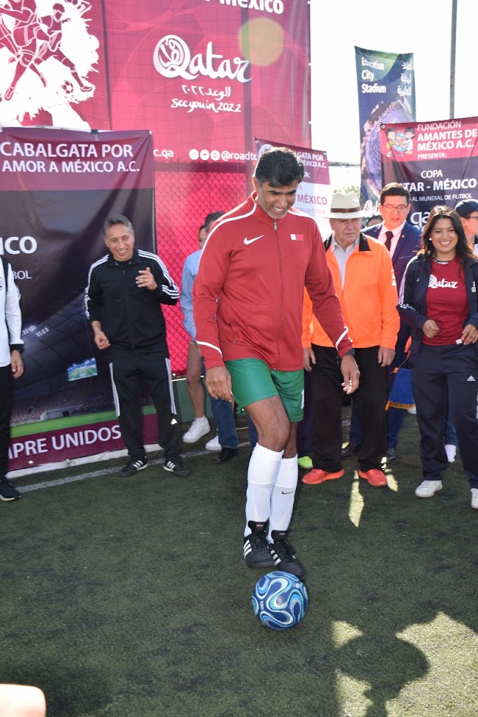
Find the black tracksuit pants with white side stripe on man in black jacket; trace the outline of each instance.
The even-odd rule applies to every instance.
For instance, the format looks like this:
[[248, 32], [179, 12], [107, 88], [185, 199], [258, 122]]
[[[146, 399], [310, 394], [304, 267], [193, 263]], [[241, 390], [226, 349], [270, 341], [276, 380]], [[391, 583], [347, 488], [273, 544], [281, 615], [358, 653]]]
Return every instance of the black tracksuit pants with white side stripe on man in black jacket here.
[[121, 435], [133, 458], [143, 458], [143, 381], [158, 417], [158, 443], [165, 460], [178, 460], [182, 435], [176, 416], [171, 363], [166, 344], [148, 348], [111, 348], [113, 379], [120, 404]]

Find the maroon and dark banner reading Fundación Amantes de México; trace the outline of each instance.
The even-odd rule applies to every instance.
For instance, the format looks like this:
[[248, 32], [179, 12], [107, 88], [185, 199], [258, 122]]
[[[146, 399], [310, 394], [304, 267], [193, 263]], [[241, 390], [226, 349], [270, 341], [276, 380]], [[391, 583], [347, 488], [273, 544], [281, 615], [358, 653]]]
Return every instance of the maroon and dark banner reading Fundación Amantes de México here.
[[401, 182], [411, 194], [410, 221], [423, 229], [436, 204], [478, 199], [478, 117], [383, 124], [383, 183]]

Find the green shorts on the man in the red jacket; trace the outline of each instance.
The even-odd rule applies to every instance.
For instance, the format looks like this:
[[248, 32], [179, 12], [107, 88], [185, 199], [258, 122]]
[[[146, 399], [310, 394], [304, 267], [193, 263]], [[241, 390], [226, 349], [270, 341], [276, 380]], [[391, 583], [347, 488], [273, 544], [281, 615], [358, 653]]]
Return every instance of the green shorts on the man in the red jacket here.
[[262, 399], [279, 396], [290, 422], [304, 417], [304, 371], [274, 371], [260, 359], [226, 361], [232, 391], [239, 409]]

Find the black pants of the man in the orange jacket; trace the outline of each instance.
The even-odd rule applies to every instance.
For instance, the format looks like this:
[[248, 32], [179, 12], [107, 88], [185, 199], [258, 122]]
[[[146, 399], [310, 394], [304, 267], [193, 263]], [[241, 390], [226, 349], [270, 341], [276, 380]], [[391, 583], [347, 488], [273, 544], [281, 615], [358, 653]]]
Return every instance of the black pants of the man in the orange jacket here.
[[[342, 467], [343, 376], [335, 348], [314, 346], [312, 365], [312, 414], [314, 452], [312, 463], [328, 473]], [[353, 393], [353, 404], [362, 435], [358, 465], [360, 470], [381, 469], [386, 455], [386, 369], [378, 364], [378, 346], [355, 348], [360, 386]]]

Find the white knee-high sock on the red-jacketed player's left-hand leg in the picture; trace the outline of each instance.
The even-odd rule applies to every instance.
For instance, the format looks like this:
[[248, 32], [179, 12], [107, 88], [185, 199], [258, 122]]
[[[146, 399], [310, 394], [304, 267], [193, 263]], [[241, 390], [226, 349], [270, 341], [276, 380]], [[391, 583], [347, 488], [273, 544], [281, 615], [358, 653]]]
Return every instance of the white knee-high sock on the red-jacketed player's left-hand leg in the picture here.
[[256, 444], [247, 470], [246, 528], [244, 536], [251, 532], [249, 521], [265, 523], [269, 518], [272, 488], [279, 474], [283, 451], [269, 450]]

